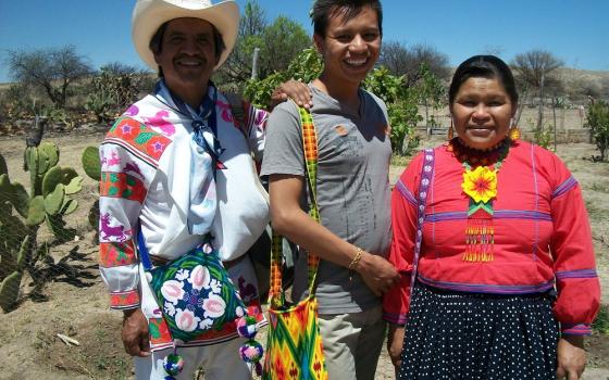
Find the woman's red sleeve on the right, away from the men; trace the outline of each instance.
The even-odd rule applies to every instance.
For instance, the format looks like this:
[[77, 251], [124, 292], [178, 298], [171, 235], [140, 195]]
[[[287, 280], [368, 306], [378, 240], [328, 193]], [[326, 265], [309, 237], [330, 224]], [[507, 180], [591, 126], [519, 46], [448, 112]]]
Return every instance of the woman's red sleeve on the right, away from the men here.
[[561, 162], [556, 166], [560, 180], [550, 203], [554, 223], [550, 249], [558, 289], [555, 315], [562, 333], [591, 334], [599, 308], [600, 284], [588, 215], [577, 181]]

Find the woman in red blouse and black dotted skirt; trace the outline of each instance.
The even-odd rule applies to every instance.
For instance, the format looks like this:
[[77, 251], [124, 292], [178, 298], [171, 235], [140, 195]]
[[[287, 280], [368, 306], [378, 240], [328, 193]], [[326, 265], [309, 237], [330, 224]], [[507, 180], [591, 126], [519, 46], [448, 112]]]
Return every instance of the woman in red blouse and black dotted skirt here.
[[458, 137], [414, 157], [393, 193], [401, 282], [384, 307], [398, 378], [577, 379], [600, 299], [580, 186], [518, 139], [498, 58], [464, 61], [449, 106]]

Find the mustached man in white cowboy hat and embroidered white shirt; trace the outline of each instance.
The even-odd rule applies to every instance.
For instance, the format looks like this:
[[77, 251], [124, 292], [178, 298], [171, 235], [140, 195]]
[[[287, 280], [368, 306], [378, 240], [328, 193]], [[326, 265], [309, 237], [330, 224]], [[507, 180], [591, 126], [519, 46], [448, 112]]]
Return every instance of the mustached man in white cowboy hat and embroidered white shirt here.
[[[244, 340], [235, 322], [187, 343], [172, 339], [163, 313], [176, 311], [157, 303], [141, 258], [144, 250], [151, 264], [164, 265], [213, 236], [211, 245], [248, 314], [264, 322], [245, 252], [269, 221], [251, 161], [251, 154], [261, 157], [268, 114], [244, 103], [244, 121], [237, 122], [210, 81], [235, 45], [238, 24], [234, 1], [138, 0], [133, 12], [134, 45], [160, 80], [100, 147], [100, 271], [111, 307], [124, 312], [122, 339], [138, 379], [165, 379], [163, 358], [176, 347], [184, 358], [178, 378], [190, 378], [199, 366], [206, 379], [251, 377], [239, 357]], [[274, 96], [308, 103], [303, 89], [290, 83]]]

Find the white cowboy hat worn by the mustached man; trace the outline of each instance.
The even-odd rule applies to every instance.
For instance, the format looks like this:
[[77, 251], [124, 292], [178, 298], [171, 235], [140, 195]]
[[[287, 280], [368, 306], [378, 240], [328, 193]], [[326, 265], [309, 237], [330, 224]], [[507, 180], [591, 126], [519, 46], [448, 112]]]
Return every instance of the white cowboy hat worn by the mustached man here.
[[239, 7], [233, 0], [216, 4], [210, 0], [137, 0], [132, 16], [132, 37], [139, 56], [157, 71], [159, 65], [149, 48], [150, 39], [165, 22], [182, 17], [204, 20], [220, 31], [226, 46], [214, 68], [220, 67], [233, 50], [239, 29]]

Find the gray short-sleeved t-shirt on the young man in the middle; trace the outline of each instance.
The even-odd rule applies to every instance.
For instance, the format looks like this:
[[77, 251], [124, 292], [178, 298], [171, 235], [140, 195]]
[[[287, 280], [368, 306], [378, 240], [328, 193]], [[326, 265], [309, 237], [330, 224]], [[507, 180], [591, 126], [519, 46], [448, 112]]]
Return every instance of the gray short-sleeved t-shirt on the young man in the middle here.
[[[363, 250], [386, 256], [391, 239], [389, 122], [383, 101], [359, 90], [359, 114], [348, 114], [337, 100], [310, 85], [318, 134], [318, 205], [321, 223]], [[279, 104], [268, 123], [262, 175], [306, 176], [302, 135], [294, 102]], [[304, 180], [306, 183], [306, 180]], [[303, 194], [307, 194], [304, 185]], [[308, 198], [303, 210], [308, 210]], [[293, 297], [307, 292], [307, 255], [296, 263]], [[346, 267], [321, 261], [316, 295], [320, 314], [358, 313], [380, 305], [359, 275], [349, 281]]]

